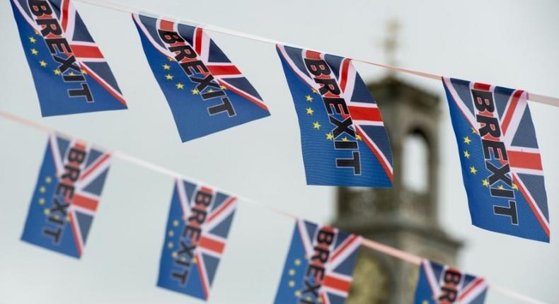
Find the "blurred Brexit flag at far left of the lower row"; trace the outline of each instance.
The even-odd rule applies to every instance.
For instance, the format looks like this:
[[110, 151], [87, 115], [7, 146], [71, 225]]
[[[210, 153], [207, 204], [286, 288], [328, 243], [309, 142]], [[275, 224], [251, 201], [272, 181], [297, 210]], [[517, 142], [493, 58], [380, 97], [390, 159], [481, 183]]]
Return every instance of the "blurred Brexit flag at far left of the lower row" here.
[[109, 153], [51, 135], [21, 240], [81, 257], [109, 166]]

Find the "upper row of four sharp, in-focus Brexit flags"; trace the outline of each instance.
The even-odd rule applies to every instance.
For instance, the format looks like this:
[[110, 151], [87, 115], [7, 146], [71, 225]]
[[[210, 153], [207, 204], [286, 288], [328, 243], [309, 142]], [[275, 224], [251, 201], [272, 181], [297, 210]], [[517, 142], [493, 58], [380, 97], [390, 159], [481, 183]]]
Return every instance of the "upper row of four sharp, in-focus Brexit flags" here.
[[[43, 116], [127, 108], [70, 0], [11, 0]], [[180, 139], [270, 115], [257, 90], [204, 30], [132, 14]], [[291, 90], [309, 185], [391, 187], [393, 159], [379, 107], [352, 59], [276, 45]], [[541, 155], [528, 93], [442, 79], [472, 223], [549, 242]]]

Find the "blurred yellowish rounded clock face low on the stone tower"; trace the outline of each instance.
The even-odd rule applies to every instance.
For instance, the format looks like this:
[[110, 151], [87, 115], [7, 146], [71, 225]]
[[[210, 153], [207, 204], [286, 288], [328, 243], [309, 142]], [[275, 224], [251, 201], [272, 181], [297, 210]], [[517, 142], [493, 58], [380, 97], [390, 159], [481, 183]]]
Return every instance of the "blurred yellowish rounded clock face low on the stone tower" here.
[[353, 281], [347, 304], [383, 304], [388, 303], [390, 279], [374, 255], [361, 250], [353, 272]]

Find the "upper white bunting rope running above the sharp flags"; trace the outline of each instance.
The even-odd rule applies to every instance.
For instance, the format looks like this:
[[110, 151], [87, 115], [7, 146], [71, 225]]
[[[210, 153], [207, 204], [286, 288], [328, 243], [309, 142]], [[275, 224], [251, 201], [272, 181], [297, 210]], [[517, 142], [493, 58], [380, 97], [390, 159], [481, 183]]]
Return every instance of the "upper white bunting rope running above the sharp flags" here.
[[[110, 9], [113, 9], [115, 11], [122, 11], [122, 12], [125, 12], [125, 13], [142, 13], [142, 14], [147, 15], [147, 16], [154, 16], [154, 17], [160, 17], [160, 18], [171, 18], [171, 19], [174, 19], [174, 20], [179, 21], [181, 23], [200, 26], [201, 28], [204, 28], [205, 30], [211, 30], [211, 31], [214, 31], [214, 32], [217, 32], [217, 33], [222, 33], [222, 34], [226, 34], [226, 35], [241, 37], [241, 38], [255, 40], [255, 41], [259, 41], [259, 42], [265, 42], [265, 43], [270, 43], [270, 44], [274, 44], [274, 45], [276, 45], [276, 44], [289, 45], [289, 46], [292, 46], [292, 47], [299, 47], [300, 49], [310, 49], [310, 50], [316, 51], [316, 52], [333, 54], [331, 52], [323, 52], [323, 51], [319, 51], [317, 49], [312, 49], [310, 47], [301, 47], [299, 45], [293, 45], [293, 44], [282, 42], [282, 41], [279, 41], [279, 40], [270, 39], [270, 38], [267, 38], [267, 37], [261, 37], [261, 36], [252, 35], [252, 34], [249, 34], [249, 33], [239, 32], [238, 30], [231, 30], [229, 28], [222, 28], [219, 25], [200, 23], [200, 22], [193, 21], [193, 20], [185, 21], [182, 18], [178, 18], [176, 16], [172, 16], [172, 15], [169, 15], [169, 14], [159, 13], [159, 12], [154, 12], [154, 11], [144, 11], [140, 8], [134, 8], [132, 6], [117, 4], [113, 1], [106, 1], [106, 0], [74, 0], [74, 1], [83, 2], [83, 3], [91, 4], [91, 5], [94, 5], [94, 6], [101, 6], [101, 7], [104, 7], [104, 8], [110, 8]], [[352, 58], [352, 57], [347, 57], [347, 56], [341, 56], [341, 57], [346, 57], [346, 58], [350, 58], [350, 59], [352, 59], [356, 62], [362, 62], [364, 64], [371, 64], [373, 66], [379, 66], [379, 67], [382, 67], [382, 68], [385, 68], [385, 69], [391, 69], [393, 71], [399, 71], [399, 72], [405, 73], [405, 74], [413, 74], [413, 75], [416, 75], [416, 76], [430, 78], [430, 79], [434, 79], [434, 80], [437, 80], [437, 81], [441, 81], [441, 78], [442, 78], [441, 75], [427, 73], [427, 72], [424, 72], [424, 71], [415, 71], [415, 70], [410, 70], [410, 69], [404, 69], [404, 68], [400, 68], [398, 66], [390, 66], [388, 64], [371, 62], [367, 59]], [[528, 94], [528, 100], [533, 101], [534, 103], [543, 103], [543, 104], [546, 104], [546, 105], [554, 105], [555, 107], [559, 107], [559, 98], [555, 98], [555, 97], [552, 97], [552, 96], [529, 93]]]

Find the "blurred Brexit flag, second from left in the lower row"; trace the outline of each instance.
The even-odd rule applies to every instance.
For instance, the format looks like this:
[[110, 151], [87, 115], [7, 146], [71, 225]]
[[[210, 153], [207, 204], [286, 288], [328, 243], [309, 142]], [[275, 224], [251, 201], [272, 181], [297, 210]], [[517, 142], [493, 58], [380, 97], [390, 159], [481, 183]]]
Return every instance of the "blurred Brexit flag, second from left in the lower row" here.
[[236, 197], [175, 180], [157, 286], [209, 298], [236, 205]]

